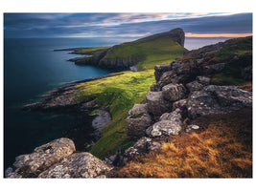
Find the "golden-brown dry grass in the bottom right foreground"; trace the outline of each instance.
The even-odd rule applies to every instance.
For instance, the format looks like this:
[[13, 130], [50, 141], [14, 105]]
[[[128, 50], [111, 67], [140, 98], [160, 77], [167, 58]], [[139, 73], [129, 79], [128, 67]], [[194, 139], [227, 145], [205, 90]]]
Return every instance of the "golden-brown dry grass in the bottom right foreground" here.
[[205, 129], [183, 133], [157, 153], [128, 162], [120, 178], [251, 178], [252, 110], [199, 117]]

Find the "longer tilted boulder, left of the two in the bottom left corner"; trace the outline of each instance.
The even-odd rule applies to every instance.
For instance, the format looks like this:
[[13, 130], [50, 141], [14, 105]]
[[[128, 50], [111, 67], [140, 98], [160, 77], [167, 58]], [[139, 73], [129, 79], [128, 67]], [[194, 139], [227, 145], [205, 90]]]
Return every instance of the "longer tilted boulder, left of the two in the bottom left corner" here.
[[58, 138], [47, 144], [36, 147], [32, 154], [16, 157], [13, 163], [14, 170], [8, 170], [8, 178], [36, 177], [36, 175], [50, 167], [60, 159], [71, 155], [76, 151], [73, 140]]

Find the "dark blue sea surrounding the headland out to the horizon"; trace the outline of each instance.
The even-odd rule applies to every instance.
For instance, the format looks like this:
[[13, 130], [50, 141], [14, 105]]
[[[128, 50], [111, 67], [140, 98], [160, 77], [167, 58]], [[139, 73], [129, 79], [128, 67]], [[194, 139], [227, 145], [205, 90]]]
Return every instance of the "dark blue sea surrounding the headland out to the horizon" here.
[[[186, 38], [188, 50], [228, 38]], [[5, 38], [4, 39], [4, 169], [15, 157], [36, 146], [61, 138], [81, 119], [69, 114], [22, 111], [21, 106], [40, 101], [65, 82], [110, 74], [93, 66], [67, 61], [80, 55], [58, 49], [113, 46], [135, 38]]]

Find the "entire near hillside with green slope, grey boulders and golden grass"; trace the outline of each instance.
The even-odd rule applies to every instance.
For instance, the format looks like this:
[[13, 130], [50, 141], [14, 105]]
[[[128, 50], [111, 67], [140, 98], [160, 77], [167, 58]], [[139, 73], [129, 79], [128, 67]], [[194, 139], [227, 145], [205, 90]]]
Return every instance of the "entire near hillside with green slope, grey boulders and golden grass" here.
[[[73, 84], [27, 109], [108, 108], [112, 119], [90, 151], [105, 161], [86, 152], [71, 154], [74, 143], [62, 138], [58, 147], [69, 148], [64, 156], [55, 154], [59, 152], [53, 141], [17, 157], [6, 175], [251, 177], [251, 80], [252, 37], [245, 37], [184, 53], [171, 63], [156, 65], [154, 75], [151, 70], [124, 72]], [[148, 163], [151, 159], [157, 162]], [[168, 174], [158, 173], [164, 163]]]

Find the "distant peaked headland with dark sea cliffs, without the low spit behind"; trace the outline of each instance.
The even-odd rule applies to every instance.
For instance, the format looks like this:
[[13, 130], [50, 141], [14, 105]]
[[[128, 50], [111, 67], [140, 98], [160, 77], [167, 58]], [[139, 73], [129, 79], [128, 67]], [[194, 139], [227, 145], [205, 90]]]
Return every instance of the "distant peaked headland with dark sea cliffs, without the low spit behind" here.
[[139, 70], [152, 69], [152, 61], [156, 62], [154, 65], [162, 64], [183, 54], [186, 51], [184, 39], [184, 32], [178, 28], [170, 32], [157, 33], [139, 40], [115, 45], [97, 51], [92, 56], [73, 61], [80, 65], [91, 64], [111, 69], [128, 69], [137, 65]]

